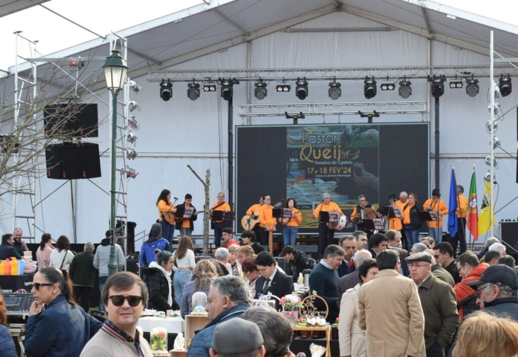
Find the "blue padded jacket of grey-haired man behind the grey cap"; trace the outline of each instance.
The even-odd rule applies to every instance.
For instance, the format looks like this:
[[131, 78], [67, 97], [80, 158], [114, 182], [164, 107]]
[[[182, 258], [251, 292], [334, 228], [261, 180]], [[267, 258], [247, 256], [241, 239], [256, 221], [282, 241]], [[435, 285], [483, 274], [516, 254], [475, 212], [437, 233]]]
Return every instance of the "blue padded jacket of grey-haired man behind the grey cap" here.
[[[187, 351], [187, 357], [208, 357], [209, 349], [212, 346], [212, 335], [214, 329], [220, 322], [225, 322], [230, 319], [235, 319], [248, 309], [248, 306], [236, 305], [233, 306], [214, 318], [203, 330], [200, 330], [191, 340], [191, 346]], [[237, 336], [236, 336], [237, 337]], [[30, 356], [27, 356], [30, 357]]]

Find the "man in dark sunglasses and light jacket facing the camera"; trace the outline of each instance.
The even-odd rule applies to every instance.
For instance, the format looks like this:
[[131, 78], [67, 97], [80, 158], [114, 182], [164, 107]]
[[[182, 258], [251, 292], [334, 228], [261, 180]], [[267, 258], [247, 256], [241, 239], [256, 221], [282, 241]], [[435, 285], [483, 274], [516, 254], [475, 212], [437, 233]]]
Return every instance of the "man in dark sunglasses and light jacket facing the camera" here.
[[148, 302], [146, 284], [136, 274], [116, 273], [101, 293], [108, 319], [88, 342], [81, 357], [152, 357], [148, 341], [140, 338], [137, 322]]

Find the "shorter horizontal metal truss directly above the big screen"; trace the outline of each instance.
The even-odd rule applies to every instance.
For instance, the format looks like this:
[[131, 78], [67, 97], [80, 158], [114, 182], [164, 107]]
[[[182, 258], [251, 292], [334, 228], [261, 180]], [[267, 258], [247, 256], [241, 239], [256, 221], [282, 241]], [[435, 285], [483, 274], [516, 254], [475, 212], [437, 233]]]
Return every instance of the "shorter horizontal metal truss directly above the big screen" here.
[[358, 103], [300, 103], [300, 104], [251, 104], [239, 105], [238, 116], [278, 117], [285, 112], [303, 112], [305, 116], [358, 115], [358, 112], [378, 112], [380, 114], [427, 113], [428, 104], [422, 102], [358, 102]]

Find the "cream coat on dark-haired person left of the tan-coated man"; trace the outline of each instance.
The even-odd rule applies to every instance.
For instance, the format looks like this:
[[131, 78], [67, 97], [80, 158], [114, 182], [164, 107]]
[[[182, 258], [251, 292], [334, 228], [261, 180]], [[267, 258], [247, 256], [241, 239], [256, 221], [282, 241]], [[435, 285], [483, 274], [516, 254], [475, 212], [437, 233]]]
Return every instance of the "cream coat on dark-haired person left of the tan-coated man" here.
[[361, 284], [343, 293], [340, 301], [338, 339], [340, 356], [366, 357], [367, 341], [365, 331], [358, 325], [358, 291]]

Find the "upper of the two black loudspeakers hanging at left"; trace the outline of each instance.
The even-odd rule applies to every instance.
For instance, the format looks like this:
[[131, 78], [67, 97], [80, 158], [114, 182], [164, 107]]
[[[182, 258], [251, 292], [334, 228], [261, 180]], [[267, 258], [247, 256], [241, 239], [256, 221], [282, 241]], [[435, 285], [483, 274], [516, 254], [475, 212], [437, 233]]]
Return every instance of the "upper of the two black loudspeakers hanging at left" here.
[[98, 134], [97, 104], [54, 104], [43, 111], [47, 137], [90, 137]]

